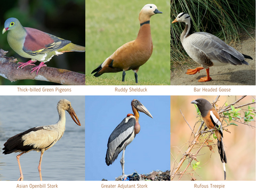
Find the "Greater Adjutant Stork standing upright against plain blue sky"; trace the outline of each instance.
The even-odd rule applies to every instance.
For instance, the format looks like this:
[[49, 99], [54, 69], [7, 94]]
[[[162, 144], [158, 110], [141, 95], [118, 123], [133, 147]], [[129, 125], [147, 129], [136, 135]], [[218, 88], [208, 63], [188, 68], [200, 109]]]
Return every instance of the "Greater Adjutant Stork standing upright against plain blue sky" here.
[[123, 121], [117, 125], [116, 129], [110, 134], [108, 139], [106, 164], [112, 164], [118, 157], [118, 154], [123, 150], [123, 155], [120, 161], [123, 175], [125, 148], [132, 142], [136, 134], [140, 132], [139, 111], [153, 118], [148, 109], [144, 107], [137, 99], [132, 100], [132, 111], [133, 114], [127, 114], [127, 117], [125, 117]]

